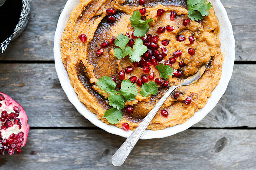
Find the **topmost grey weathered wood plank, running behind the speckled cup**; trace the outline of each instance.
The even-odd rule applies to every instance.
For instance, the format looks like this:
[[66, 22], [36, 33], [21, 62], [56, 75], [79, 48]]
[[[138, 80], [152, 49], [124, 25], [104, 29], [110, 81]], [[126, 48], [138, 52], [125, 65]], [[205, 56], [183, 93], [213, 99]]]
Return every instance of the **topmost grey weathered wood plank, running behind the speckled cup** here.
[[[28, 26], [0, 60], [53, 60], [53, 39], [63, 0], [33, 0]], [[256, 1], [222, 0], [233, 25], [236, 61], [256, 61]], [[47, 7], [47, 8], [46, 8]], [[250, 14], [248, 15], [248, 11]]]

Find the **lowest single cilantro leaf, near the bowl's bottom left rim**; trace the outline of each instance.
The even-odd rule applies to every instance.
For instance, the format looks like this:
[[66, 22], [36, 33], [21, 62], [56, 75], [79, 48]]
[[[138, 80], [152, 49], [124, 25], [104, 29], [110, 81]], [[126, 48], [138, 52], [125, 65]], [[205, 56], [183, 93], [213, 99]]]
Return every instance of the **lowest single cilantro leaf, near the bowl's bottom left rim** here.
[[118, 121], [122, 120], [123, 113], [121, 110], [117, 110], [116, 108], [111, 108], [105, 111], [103, 118], [106, 118], [109, 123], [117, 124]]

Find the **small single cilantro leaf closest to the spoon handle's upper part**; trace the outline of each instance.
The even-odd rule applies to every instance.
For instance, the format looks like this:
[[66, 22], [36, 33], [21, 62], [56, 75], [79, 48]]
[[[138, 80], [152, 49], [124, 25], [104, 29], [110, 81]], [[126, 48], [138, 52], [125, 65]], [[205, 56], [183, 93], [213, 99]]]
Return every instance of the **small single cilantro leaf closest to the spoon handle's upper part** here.
[[148, 97], [151, 94], [156, 95], [157, 93], [158, 93], [158, 85], [153, 81], [142, 84], [140, 88], [140, 94], [143, 97]]

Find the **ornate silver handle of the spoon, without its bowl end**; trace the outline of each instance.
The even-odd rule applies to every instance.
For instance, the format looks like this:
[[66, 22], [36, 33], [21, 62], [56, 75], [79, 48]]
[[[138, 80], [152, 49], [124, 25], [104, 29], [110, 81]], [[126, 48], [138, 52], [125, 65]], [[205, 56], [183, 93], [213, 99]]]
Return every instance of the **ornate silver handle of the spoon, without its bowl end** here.
[[156, 115], [157, 111], [160, 109], [164, 101], [167, 97], [177, 88], [178, 86], [171, 86], [170, 89], [163, 95], [163, 97], [158, 101], [155, 107], [147, 114], [147, 116], [141, 121], [138, 127], [132, 132], [132, 134], [124, 141], [124, 143], [119, 147], [117, 152], [112, 156], [112, 164], [114, 166], [121, 166], [128, 155], [130, 154], [131, 150], [138, 142], [140, 136], [148, 127], [151, 120]]

